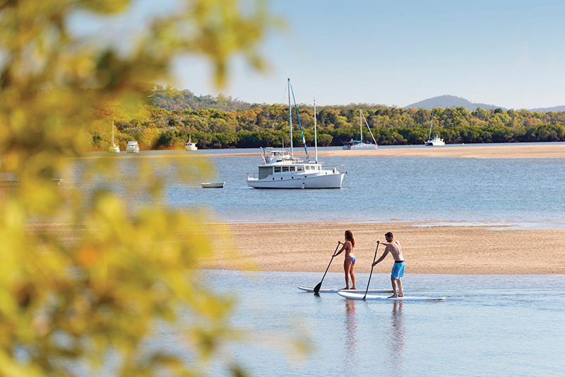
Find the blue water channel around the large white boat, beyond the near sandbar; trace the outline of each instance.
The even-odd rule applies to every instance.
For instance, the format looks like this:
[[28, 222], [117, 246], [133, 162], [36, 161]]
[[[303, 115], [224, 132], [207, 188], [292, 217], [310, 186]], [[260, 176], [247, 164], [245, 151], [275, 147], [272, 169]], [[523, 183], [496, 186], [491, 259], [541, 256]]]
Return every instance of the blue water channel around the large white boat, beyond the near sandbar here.
[[[559, 143], [561, 144], [561, 143]], [[563, 143], [565, 148], [565, 143]], [[404, 146], [403, 148], [420, 148]], [[460, 146], [472, 148], [473, 146]], [[387, 148], [386, 146], [380, 148]], [[335, 148], [333, 148], [335, 149]], [[320, 153], [326, 149], [320, 149]], [[164, 158], [143, 158], [161, 170], [166, 200], [176, 208], [213, 209], [227, 221], [364, 221], [423, 222], [427, 224], [511, 225], [521, 228], [565, 228], [565, 161], [544, 159], [478, 159], [418, 157], [323, 157], [326, 165], [343, 164], [347, 175], [340, 190], [256, 190], [246, 173], [256, 172], [258, 156], [222, 156], [258, 150], [202, 151], [216, 168], [223, 189], [203, 189], [198, 182], [172, 180]], [[186, 151], [147, 151], [117, 158], [124, 180], [132, 176], [142, 156], [177, 156], [194, 163]], [[107, 156], [108, 153], [93, 153]], [[80, 176], [78, 160], [73, 174]], [[73, 174], [65, 184], [89, 190], [100, 182]], [[105, 183], [106, 184], [106, 183]], [[62, 186], [61, 186], [62, 187]], [[124, 186], [115, 185], [126, 199]], [[131, 199], [133, 200], [133, 199]], [[134, 206], [136, 203], [132, 203]]]

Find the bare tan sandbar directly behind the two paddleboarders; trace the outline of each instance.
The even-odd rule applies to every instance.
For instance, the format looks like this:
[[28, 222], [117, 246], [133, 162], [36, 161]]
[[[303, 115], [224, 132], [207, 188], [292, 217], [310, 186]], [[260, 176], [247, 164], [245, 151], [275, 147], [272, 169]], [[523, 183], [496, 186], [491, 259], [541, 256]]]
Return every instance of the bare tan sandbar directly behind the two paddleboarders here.
[[[376, 240], [384, 241], [384, 233], [392, 231], [403, 246], [406, 274], [565, 274], [565, 229], [351, 222], [218, 223], [205, 228], [215, 236], [216, 251], [213, 260], [202, 261], [206, 269], [323, 273], [337, 241], [350, 230], [356, 242], [355, 272], [371, 271]], [[383, 251], [379, 245], [377, 258]], [[388, 255], [373, 272], [390, 273], [392, 265]], [[338, 255], [328, 272], [343, 272], [342, 266]]]

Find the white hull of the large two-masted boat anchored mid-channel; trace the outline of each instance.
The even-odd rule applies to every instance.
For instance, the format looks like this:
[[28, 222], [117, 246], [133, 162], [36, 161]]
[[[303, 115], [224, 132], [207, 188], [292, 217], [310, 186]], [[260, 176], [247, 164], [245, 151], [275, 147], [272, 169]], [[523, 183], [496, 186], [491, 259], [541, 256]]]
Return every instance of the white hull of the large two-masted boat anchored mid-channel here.
[[321, 174], [268, 175], [266, 178], [247, 178], [247, 185], [272, 189], [341, 188], [344, 173], [322, 171]]

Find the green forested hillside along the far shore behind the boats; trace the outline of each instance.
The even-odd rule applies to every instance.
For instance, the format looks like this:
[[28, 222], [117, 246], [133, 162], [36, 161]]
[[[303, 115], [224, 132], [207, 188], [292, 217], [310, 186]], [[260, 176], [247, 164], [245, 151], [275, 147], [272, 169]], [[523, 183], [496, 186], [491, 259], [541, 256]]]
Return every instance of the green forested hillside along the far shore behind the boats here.
[[[141, 149], [182, 149], [191, 137], [201, 149], [251, 148], [289, 144], [288, 105], [249, 104], [219, 95], [198, 97], [151, 84], [145, 87], [147, 103], [136, 112], [117, 105], [93, 112], [90, 129], [93, 150], [107, 150], [115, 124], [117, 143], [137, 140]], [[293, 111], [293, 142], [302, 145], [299, 125], [309, 146], [314, 144], [314, 111], [298, 105], [300, 123]], [[363, 110], [378, 144], [422, 144], [429, 134], [432, 110], [384, 105], [350, 104], [316, 108], [319, 146], [339, 146], [359, 138], [359, 110]], [[434, 108], [433, 134], [447, 144], [565, 141], [565, 112], [528, 110], [469, 111]], [[364, 128], [364, 139], [370, 138]]]

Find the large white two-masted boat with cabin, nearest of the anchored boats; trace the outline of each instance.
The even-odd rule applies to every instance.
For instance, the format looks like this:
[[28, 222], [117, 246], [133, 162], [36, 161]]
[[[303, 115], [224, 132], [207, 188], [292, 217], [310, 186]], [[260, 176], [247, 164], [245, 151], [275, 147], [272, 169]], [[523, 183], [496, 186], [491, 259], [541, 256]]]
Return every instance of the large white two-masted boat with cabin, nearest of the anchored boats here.
[[[345, 167], [332, 166], [322, 167], [323, 163], [318, 161], [318, 136], [316, 134], [316, 98], [314, 98], [314, 144], [316, 146], [316, 159], [310, 161], [306, 149], [306, 140], [302, 133], [302, 142], [306, 152], [307, 161], [295, 158], [292, 148], [292, 108], [290, 105], [290, 93], [292, 85], [288, 79], [288, 121], [290, 126], [290, 153], [288, 151], [263, 149], [261, 158], [263, 163], [258, 165], [258, 173], [247, 173], [247, 185], [254, 188], [341, 188]], [[294, 93], [292, 93], [294, 98]], [[300, 124], [298, 108], [295, 100], [295, 109]], [[302, 132], [302, 124], [300, 124]], [[270, 153], [270, 154], [268, 154]]]

